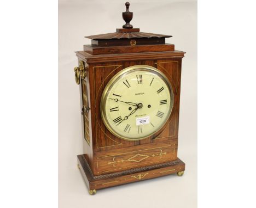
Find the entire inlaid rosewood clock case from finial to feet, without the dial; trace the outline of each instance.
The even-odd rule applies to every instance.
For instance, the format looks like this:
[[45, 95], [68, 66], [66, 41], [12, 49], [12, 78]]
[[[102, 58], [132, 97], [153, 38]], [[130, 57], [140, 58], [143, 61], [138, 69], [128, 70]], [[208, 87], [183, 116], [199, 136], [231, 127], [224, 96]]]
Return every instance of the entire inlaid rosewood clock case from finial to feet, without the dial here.
[[[130, 13], [127, 3], [125, 13]], [[91, 45], [84, 45], [84, 51], [75, 52], [79, 63], [75, 68], [75, 81], [80, 88], [83, 126], [83, 154], [77, 156], [78, 167], [90, 194], [95, 194], [97, 189], [167, 174], [181, 176], [185, 169], [185, 164], [177, 157], [181, 68], [185, 52], [165, 43], [170, 35], [142, 33], [130, 24], [125, 28], [126, 25], [114, 33], [87, 36]], [[125, 140], [114, 136], [104, 125], [100, 102], [109, 80], [119, 71], [135, 65], [153, 66], [164, 73], [173, 90], [173, 108], [167, 123], [153, 136]]]

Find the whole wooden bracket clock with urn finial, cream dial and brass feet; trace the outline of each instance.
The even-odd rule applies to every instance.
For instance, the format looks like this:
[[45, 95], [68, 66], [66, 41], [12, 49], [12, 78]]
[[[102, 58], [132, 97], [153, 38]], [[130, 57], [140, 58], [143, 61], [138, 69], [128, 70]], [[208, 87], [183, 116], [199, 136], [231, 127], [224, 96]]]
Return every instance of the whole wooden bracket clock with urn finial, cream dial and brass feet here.
[[130, 25], [86, 36], [75, 52], [80, 88], [83, 155], [78, 167], [90, 194], [97, 189], [168, 174], [183, 175], [177, 157], [181, 66], [184, 53], [165, 43], [171, 35]]

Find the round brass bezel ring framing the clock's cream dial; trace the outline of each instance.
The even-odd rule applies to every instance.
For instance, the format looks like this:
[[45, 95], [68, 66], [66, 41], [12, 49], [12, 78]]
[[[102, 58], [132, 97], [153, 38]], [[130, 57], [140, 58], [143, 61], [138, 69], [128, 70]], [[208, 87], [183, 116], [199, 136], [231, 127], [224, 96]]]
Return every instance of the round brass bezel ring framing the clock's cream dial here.
[[[154, 131], [152, 134], [147, 135], [146, 137], [138, 137], [136, 139], [131, 139], [131, 138], [126, 138], [121, 136], [119, 133], [115, 132], [114, 129], [112, 129], [112, 127], [109, 125], [108, 120], [106, 118], [106, 110], [104, 108], [106, 100], [107, 100], [107, 94], [110, 88], [113, 87], [113, 85], [118, 81], [118, 79], [123, 78], [124, 76], [126, 76], [127, 74], [130, 74], [133, 70], [142, 70], [142, 71], [150, 71], [153, 72], [153, 74], [158, 75], [160, 78], [162, 78], [162, 80], [166, 83], [169, 91], [170, 91], [170, 99], [171, 99], [171, 103], [170, 103], [170, 114], [168, 115], [166, 121], [164, 124], [161, 125], [161, 127], [159, 127], [159, 129], [157, 131]], [[152, 136], [154, 133], [158, 132], [168, 121], [168, 119], [170, 118], [170, 115], [172, 113], [172, 108], [173, 108], [173, 90], [172, 90], [172, 85], [171, 83], [168, 81], [168, 78], [165, 76], [164, 73], [162, 73], [160, 70], [154, 68], [153, 66], [148, 66], [148, 65], [134, 65], [134, 66], [129, 66], [121, 71], [119, 71], [115, 76], [113, 76], [110, 81], [107, 83], [106, 87], [103, 90], [102, 96], [101, 96], [101, 104], [100, 104], [100, 111], [101, 111], [101, 118], [103, 120], [104, 125], [107, 127], [107, 129], [114, 134], [114, 136], [120, 138], [120, 139], [124, 139], [124, 140], [132, 140], [132, 141], [137, 141], [137, 140], [141, 140], [141, 139], [146, 139], [150, 136]]]

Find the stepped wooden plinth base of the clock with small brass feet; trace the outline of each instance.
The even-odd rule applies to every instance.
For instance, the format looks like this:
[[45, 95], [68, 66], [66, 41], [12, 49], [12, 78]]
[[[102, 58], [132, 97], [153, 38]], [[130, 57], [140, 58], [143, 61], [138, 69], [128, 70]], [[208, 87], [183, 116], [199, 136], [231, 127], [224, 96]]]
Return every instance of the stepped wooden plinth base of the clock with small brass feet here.
[[183, 171], [185, 170], [185, 163], [178, 158], [175, 161], [155, 164], [152, 166], [132, 168], [104, 175], [94, 175], [86, 161], [85, 155], [78, 155], [77, 158], [78, 168], [84, 177], [90, 194], [95, 194], [98, 189], [157, 178], [168, 174], [177, 173], [179, 176], [182, 176]]

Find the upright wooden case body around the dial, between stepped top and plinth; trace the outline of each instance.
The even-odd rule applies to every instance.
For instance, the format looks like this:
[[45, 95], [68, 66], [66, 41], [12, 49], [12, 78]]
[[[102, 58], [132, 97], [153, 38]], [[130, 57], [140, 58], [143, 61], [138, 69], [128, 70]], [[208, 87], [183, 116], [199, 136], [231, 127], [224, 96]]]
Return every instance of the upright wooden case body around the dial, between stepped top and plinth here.
[[[81, 105], [86, 106], [89, 97], [91, 108], [88, 113], [90, 119], [86, 117], [86, 114], [82, 115], [82, 118], [84, 154], [92, 173], [102, 175], [177, 160], [181, 64], [184, 52], [176, 51], [172, 54], [174, 58], [167, 59], [149, 60], [148, 57], [144, 60], [116, 60], [98, 63], [91, 63], [89, 57], [84, 56], [85, 52], [77, 52], [77, 55], [79, 61], [82, 60], [86, 66], [88, 65], [87, 76], [81, 79], [80, 90]], [[120, 57], [116, 57], [118, 58]], [[108, 131], [101, 118], [100, 101], [109, 80], [119, 71], [134, 65], [149, 65], [163, 72], [171, 83], [174, 103], [167, 123], [158, 132], [146, 139], [129, 141], [120, 139]], [[87, 90], [85, 90], [85, 85]], [[89, 93], [88, 96], [86, 91]], [[86, 139], [88, 138], [86, 135], [89, 135], [89, 140]]]

